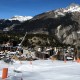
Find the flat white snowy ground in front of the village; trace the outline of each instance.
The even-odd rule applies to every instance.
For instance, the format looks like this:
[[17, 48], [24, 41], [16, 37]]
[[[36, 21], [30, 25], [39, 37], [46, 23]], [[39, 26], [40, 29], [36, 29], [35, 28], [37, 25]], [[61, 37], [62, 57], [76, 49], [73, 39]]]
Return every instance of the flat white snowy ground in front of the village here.
[[73, 61], [36, 60], [32, 65], [29, 61], [16, 61], [13, 65], [0, 61], [0, 77], [5, 67], [9, 69], [7, 80], [80, 80], [80, 63]]

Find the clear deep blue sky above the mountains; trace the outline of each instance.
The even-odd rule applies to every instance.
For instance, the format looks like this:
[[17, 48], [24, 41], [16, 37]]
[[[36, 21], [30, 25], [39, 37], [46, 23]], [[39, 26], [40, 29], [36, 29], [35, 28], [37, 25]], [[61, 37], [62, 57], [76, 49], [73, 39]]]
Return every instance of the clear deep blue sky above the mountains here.
[[11, 18], [14, 15], [35, 16], [65, 8], [71, 3], [80, 4], [80, 0], [0, 0], [0, 18]]

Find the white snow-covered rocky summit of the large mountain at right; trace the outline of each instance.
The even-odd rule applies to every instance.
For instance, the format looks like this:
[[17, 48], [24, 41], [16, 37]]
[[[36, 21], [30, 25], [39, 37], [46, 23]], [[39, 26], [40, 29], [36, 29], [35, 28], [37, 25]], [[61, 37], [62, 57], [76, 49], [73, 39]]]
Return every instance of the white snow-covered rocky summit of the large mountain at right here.
[[54, 12], [55, 18], [58, 16], [65, 16], [65, 13], [80, 12], [80, 5], [72, 3], [68, 7], [56, 9]]

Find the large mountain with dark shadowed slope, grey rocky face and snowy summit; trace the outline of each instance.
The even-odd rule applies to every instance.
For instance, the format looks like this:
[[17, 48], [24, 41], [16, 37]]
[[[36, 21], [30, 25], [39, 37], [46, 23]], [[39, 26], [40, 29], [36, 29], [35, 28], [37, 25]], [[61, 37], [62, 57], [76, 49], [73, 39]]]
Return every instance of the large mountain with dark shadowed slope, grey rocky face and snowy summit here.
[[80, 44], [80, 5], [71, 4], [66, 8], [47, 11], [32, 19], [15, 25], [10, 33], [45, 34], [53, 40], [78, 46]]

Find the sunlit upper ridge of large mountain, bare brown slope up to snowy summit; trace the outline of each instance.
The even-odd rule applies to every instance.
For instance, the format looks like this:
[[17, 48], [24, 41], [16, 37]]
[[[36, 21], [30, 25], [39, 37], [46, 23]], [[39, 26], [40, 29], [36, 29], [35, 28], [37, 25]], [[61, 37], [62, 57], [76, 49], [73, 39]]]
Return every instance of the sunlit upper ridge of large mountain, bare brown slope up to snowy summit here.
[[59, 8], [56, 10], [51, 10], [44, 12], [42, 14], [36, 15], [32, 18], [32, 20], [41, 19], [41, 18], [58, 18], [61, 16], [65, 16], [67, 13], [80, 12], [80, 5], [72, 3], [66, 8]]

